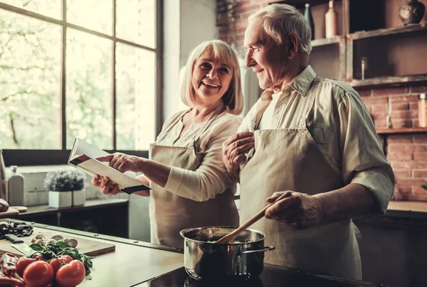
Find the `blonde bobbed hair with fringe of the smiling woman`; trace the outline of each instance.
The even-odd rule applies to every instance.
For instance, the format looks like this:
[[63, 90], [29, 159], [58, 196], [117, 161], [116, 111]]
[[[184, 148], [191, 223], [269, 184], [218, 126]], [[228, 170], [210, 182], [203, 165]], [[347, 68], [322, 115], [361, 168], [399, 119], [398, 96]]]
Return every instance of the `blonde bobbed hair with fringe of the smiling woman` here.
[[241, 87], [240, 67], [236, 53], [233, 48], [222, 40], [209, 40], [203, 42], [194, 48], [186, 66], [184, 67], [184, 75], [181, 81], [181, 100], [189, 107], [194, 107], [196, 94], [194, 87], [191, 85], [191, 75], [194, 71], [194, 64], [199, 60], [201, 55], [209, 51], [214, 59], [221, 59], [233, 68], [233, 77], [231, 78], [230, 87], [223, 95], [222, 100], [226, 105], [226, 109], [230, 114], [241, 114], [243, 111], [243, 94]]

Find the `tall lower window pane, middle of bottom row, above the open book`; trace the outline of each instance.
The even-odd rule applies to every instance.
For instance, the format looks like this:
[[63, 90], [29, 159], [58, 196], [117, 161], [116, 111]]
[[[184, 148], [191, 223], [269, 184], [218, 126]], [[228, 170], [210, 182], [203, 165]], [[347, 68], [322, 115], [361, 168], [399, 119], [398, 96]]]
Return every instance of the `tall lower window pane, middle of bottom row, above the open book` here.
[[67, 148], [112, 149], [112, 41], [69, 28], [66, 58]]

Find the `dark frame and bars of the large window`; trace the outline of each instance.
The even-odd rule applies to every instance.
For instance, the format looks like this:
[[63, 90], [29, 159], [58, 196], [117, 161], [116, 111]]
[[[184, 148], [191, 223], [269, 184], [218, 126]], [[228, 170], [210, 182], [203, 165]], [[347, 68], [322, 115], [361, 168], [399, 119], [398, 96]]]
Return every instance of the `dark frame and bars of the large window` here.
[[[29, 16], [32, 18], [37, 18], [42, 21], [47, 21], [49, 23], [56, 23], [62, 26], [62, 44], [61, 44], [61, 94], [60, 94], [60, 102], [61, 102], [61, 149], [55, 150], [39, 150], [39, 149], [3, 149], [4, 163], [6, 166], [46, 166], [46, 165], [58, 165], [58, 164], [66, 164], [68, 162], [68, 157], [70, 156], [70, 149], [66, 149], [66, 121], [65, 121], [65, 53], [67, 48], [66, 37], [67, 37], [67, 28], [73, 28], [78, 31], [83, 31], [85, 33], [90, 33], [91, 35], [99, 36], [102, 38], [107, 38], [112, 40], [113, 48], [112, 48], [112, 150], [106, 150], [109, 153], [122, 152], [127, 153], [133, 156], [141, 156], [144, 158], [148, 158], [148, 151], [122, 151], [117, 150], [117, 142], [116, 142], [116, 44], [117, 43], [125, 43], [127, 45], [132, 45], [136, 48], [143, 48], [145, 50], [150, 50], [156, 53], [156, 92], [155, 92], [155, 102], [156, 102], [156, 135], [160, 133], [163, 125], [163, 94], [162, 94], [162, 86], [163, 86], [163, 7], [164, 0], [156, 0], [156, 48], [149, 48], [144, 45], [140, 45], [137, 43], [132, 43], [127, 40], [123, 40], [120, 38], [116, 38], [116, 0], [112, 0], [113, 5], [113, 17], [112, 17], [112, 25], [113, 31], [112, 36], [100, 33], [97, 31], [90, 30], [88, 28], [84, 28], [82, 26], [78, 26], [72, 23], [67, 23], [66, 18], [66, 0], [62, 0], [62, 19], [58, 20], [56, 18], [51, 18], [48, 16], [44, 16], [40, 13], [35, 13], [32, 11], [28, 11], [25, 9], [21, 9], [16, 6], [11, 6], [9, 4], [0, 3], [0, 9], [4, 9], [6, 11], [11, 11], [15, 13], [19, 13], [24, 16]], [[58, 119], [59, 120], [59, 119]], [[1, 148], [1, 147], [0, 147]]]

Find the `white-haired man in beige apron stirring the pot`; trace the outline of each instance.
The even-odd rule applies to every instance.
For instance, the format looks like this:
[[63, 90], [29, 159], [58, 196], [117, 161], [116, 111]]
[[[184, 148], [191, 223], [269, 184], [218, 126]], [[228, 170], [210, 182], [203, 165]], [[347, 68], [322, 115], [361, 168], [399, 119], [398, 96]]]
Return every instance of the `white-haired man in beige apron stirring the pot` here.
[[246, 66], [265, 90], [223, 144], [241, 184], [241, 222], [283, 193], [253, 229], [276, 247], [270, 264], [362, 278], [352, 217], [386, 211], [394, 174], [359, 94], [308, 65], [305, 18], [285, 4], [249, 18]]

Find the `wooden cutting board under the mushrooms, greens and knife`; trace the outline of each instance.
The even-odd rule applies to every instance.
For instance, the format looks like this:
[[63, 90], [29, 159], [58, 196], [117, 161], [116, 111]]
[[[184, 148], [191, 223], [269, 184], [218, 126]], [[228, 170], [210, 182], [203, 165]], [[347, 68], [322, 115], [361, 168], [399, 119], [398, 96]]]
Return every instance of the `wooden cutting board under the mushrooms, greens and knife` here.
[[[36, 237], [36, 235], [39, 232], [42, 233], [46, 237], [46, 239], [51, 237], [53, 234], [60, 234], [64, 238], [77, 239], [78, 244], [77, 244], [77, 247], [75, 247], [75, 249], [77, 249], [80, 253], [86, 254], [89, 256], [95, 256], [95, 255], [115, 251], [114, 244], [98, 242], [96, 240], [88, 239], [88, 237], [80, 237], [75, 234], [70, 234], [66, 232], [56, 232], [51, 229], [43, 229], [38, 227], [33, 228], [33, 234], [31, 234], [29, 237], [20, 237], [20, 239], [22, 239], [26, 244], [31, 245], [31, 239], [33, 239], [33, 237]], [[20, 251], [12, 247], [12, 242], [10, 242], [7, 239], [2, 239], [0, 240], [0, 254], [5, 254], [6, 252], [14, 254], [18, 257], [24, 255]]]

